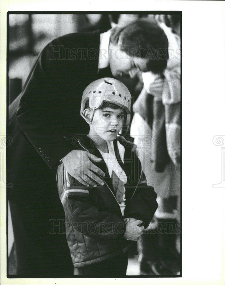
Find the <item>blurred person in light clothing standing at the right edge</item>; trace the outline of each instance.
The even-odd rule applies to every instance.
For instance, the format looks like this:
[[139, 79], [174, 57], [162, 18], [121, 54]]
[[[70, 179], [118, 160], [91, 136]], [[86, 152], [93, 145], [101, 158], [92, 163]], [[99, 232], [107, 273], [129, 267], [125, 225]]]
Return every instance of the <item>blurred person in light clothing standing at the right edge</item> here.
[[174, 33], [179, 32], [180, 19], [173, 15], [156, 15], [155, 19], [169, 40], [169, 59], [161, 75], [142, 74], [144, 88], [134, 103], [131, 136], [159, 204], [149, 234], [142, 236], [141, 270], [173, 275], [180, 273], [181, 66], [180, 38]]

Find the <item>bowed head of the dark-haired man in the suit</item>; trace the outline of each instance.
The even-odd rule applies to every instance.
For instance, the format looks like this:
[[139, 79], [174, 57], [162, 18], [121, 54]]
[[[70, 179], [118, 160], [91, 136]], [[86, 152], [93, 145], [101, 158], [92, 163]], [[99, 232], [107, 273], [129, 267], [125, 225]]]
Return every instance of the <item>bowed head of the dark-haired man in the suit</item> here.
[[109, 64], [113, 76], [137, 71], [161, 74], [168, 59], [168, 39], [164, 31], [147, 20], [138, 20], [112, 29], [109, 44]]

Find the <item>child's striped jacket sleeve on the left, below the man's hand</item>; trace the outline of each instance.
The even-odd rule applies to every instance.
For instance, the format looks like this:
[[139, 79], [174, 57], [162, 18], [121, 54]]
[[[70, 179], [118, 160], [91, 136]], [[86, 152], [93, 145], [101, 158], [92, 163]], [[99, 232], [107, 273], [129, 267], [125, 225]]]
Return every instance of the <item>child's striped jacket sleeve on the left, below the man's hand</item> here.
[[114, 213], [100, 210], [91, 203], [90, 191], [96, 189], [80, 184], [69, 175], [63, 164], [58, 166], [57, 185], [70, 227], [84, 235], [102, 240], [119, 239], [124, 236], [124, 220]]

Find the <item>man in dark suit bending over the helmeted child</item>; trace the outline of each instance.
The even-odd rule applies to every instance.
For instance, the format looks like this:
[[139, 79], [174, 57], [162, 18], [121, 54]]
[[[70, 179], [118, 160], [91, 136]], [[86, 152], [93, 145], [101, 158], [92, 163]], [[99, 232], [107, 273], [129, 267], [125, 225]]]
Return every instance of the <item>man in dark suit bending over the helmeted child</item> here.
[[102, 77], [133, 77], [138, 69], [162, 72], [167, 47], [167, 38], [157, 25], [137, 21], [103, 34], [68, 34], [41, 52], [8, 127], [13, 136], [7, 150], [8, 181], [13, 183], [8, 198], [18, 274], [72, 274], [55, 168], [62, 162], [86, 186], [104, 183], [99, 178], [104, 173], [90, 161], [101, 159], [76, 149], [77, 137], [82, 140], [87, 132], [74, 111], [83, 90]]

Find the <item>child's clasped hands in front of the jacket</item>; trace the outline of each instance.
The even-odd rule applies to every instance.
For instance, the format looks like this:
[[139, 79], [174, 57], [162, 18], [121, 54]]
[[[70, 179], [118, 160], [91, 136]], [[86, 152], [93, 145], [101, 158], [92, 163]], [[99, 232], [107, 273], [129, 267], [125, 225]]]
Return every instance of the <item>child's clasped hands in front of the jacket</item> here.
[[129, 218], [129, 221], [126, 224], [124, 238], [130, 241], [137, 241], [138, 239], [140, 239], [140, 236], [144, 231], [144, 226], [139, 226], [141, 223], [141, 220]]

